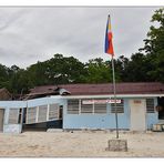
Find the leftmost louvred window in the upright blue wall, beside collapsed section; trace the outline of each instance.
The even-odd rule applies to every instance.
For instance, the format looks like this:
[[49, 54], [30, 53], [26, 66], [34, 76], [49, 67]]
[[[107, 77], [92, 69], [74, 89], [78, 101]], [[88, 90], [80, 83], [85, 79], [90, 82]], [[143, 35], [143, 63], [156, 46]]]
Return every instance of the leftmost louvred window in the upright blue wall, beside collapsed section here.
[[79, 100], [68, 100], [68, 114], [79, 114]]

